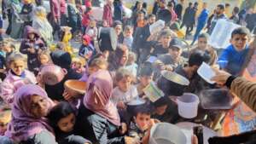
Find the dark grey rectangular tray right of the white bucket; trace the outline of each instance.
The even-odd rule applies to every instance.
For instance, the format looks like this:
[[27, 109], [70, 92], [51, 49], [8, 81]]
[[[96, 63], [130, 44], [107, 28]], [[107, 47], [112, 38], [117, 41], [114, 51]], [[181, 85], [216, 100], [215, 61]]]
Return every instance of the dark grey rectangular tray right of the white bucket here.
[[204, 109], [230, 109], [233, 98], [228, 89], [205, 89], [200, 95]]

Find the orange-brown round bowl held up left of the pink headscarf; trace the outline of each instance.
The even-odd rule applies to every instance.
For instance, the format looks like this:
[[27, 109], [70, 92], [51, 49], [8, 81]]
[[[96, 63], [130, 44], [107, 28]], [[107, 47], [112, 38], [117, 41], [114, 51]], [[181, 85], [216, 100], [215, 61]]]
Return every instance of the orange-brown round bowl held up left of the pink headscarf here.
[[65, 82], [64, 87], [69, 95], [76, 97], [78, 95], [84, 95], [86, 83], [79, 80], [70, 79]]

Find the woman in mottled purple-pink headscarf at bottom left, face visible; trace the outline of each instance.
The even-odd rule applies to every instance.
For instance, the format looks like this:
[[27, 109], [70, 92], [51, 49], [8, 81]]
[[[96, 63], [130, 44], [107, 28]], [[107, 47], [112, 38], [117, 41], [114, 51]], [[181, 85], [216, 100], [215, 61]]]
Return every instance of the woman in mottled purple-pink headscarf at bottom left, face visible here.
[[18, 143], [56, 144], [53, 130], [44, 118], [53, 105], [38, 85], [20, 87], [15, 93], [12, 120], [5, 135]]

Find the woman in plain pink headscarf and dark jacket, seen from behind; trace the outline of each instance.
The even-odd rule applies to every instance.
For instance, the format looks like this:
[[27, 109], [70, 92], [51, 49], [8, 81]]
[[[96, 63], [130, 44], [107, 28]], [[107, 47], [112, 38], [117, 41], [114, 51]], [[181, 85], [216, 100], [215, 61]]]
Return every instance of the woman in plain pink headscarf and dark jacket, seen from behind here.
[[[90, 75], [84, 102], [79, 107], [76, 130], [93, 143], [125, 143], [125, 137], [113, 135], [120, 125], [117, 108], [110, 101], [113, 78], [106, 70]], [[110, 135], [115, 138], [110, 139]]]

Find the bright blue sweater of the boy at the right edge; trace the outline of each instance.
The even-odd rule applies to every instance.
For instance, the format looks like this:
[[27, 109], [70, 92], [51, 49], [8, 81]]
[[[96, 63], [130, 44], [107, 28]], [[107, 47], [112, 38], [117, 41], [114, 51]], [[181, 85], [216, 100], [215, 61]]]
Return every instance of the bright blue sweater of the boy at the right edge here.
[[224, 69], [232, 75], [238, 75], [241, 72], [241, 68], [245, 62], [248, 51], [248, 46], [241, 51], [236, 51], [234, 46], [230, 45], [224, 49], [218, 60], [226, 60], [228, 63]]

